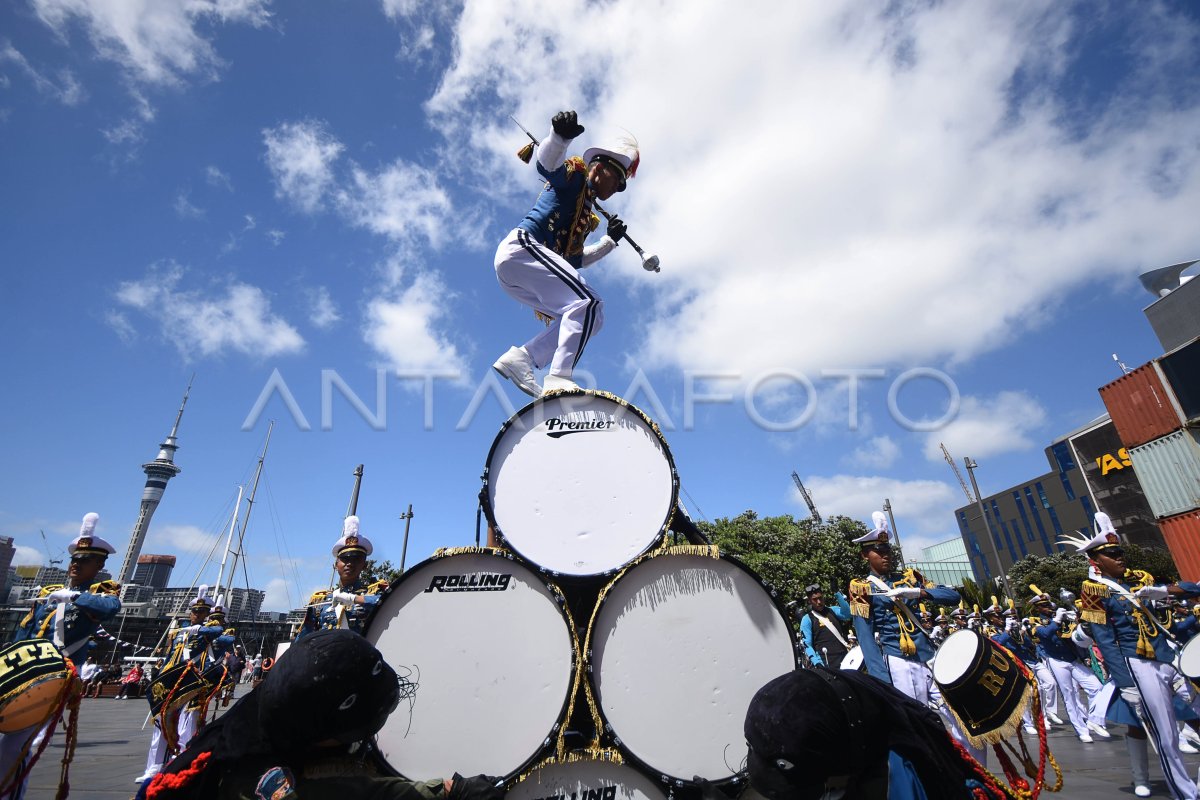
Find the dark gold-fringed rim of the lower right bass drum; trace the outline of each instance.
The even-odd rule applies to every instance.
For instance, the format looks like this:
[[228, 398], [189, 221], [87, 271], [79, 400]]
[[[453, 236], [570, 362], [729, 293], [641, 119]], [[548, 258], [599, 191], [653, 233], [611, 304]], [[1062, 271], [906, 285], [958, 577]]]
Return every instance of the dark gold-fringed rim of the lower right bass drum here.
[[622, 567], [618, 575], [613, 577], [608, 583], [606, 583], [604, 588], [600, 590], [600, 595], [599, 597], [596, 597], [596, 604], [592, 609], [592, 616], [588, 619], [588, 632], [587, 632], [587, 638], [583, 643], [583, 660], [586, 662], [584, 675], [588, 681], [588, 688], [592, 691], [592, 696], [595, 698], [596, 712], [600, 715], [600, 721], [604, 723], [602, 733], [606, 734], [612, 740], [613, 747], [616, 747], [620, 752], [622, 757], [624, 757], [626, 762], [635, 764], [641, 771], [646, 772], [647, 775], [656, 776], [656, 780], [660, 783], [672, 787], [683, 787], [683, 786], [698, 787], [703, 786], [704, 783], [709, 783], [712, 786], [737, 786], [745, 781], [746, 770], [738, 770], [737, 772], [734, 772], [728, 777], [718, 778], [714, 781], [703, 781], [703, 782], [694, 781], [692, 778], [683, 778], [677, 775], [667, 775], [662, 770], [650, 766], [636, 753], [634, 753], [625, 744], [625, 740], [622, 739], [616, 730], [613, 730], [612, 724], [610, 724], [608, 720], [605, 718], [604, 704], [600, 699], [600, 688], [596, 686], [596, 678], [600, 670], [594, 669], [593, 667], [595, 664], [592, 662], [592, 651], [593, 651], [592, 631], [594, 630], [594, 624], [596, 618], [600, 615], [600, 609], [608, 601], [610, 589], [617, 585], [617, 583], [625, 577], [626, 572], [631, 572], [640, 565], [662, 557], [691, 555], [695, 558], [712, 559], [714, 561], [728, 561], [730, 564], [732, 564], [733, 566], [738, 567], [739, 570], [749, 575], [751, 578], [754, 578], [755, 582], [766, 590], [767, 596], [770, 597], [772, 607], [774, 607], [774, 609], [779, 613], [780, 619], [784, 621], [784, 630], [787, 631], [787, 638], [792, 644], [793, 669], [798, 669], [800, 667], [802, 650], [799, 646], [799, 639], [797, 637], [796, 628], [792, 627], [792, 621], [787, 616], [787, 607], [781, 601], [779, 591], [775, 589], [775, 587], [763, 581], [763, 578], [757, 572], [755, 572], [749, 564], [743, 561], [737, 555], [733, 555], [732, 553], [724, 553], [715, 545], [700, 546], [700, 549], [706, 549], [706, 548], [715, 549], [716, 557], [714, 558], [712, 555], [697, 553], [696, 546], [680, 545], [673, 547], [665, 547], [655, 553], [642, 555], [636, 560], [631, 561], [630, 564], [626, 564], [624, 567]]

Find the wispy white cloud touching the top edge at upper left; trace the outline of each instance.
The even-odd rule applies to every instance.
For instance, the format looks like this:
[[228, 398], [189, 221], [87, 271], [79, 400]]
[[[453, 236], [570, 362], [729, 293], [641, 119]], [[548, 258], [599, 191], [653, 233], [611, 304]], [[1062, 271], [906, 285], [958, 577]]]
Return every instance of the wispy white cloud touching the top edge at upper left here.
[[222, 61], [198, 28], [266, 25], [266, 0], [34, 0], [43, 23], [67, 41], [79, 22], [100, 58], [137, 83], [178, 85], [215, 78]]

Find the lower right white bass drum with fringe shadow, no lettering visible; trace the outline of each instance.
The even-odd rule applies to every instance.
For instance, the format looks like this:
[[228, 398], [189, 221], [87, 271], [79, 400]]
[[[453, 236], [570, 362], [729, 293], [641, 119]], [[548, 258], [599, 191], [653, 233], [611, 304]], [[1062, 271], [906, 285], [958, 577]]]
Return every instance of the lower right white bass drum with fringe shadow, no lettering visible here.
[[634, 565], [601, 593], [590, 680], [630, 760], [689, 783], [727, 781], [746, 757], [750, 699], [796, 669], [796, 639], [745, 565], [678, 551]]

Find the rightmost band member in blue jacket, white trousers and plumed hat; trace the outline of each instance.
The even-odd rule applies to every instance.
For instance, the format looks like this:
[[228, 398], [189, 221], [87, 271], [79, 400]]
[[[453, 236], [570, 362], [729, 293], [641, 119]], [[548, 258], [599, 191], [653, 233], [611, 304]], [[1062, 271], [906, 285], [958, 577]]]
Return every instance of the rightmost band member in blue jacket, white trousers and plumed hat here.
[[[1110, 706], [1109, 718], [1130, 726], [1126, 746], [1134, 794], [1150, 796], [1148, 733], [1154, 738], [1154, 750], [1171, 795], [1195, 800], [1196, 784], [1180, 753], [1178, 721], [1172, 704], [1175, 685], [1182, 676], [1174, 666], [1170, 634], [1148, 603], [1168, 597], [1195, 597], [1200, 595], [1200, 585], [1181, 582], [1159, 587], [1153, 585], [1153, 576], [1146, 572], [1127, 571], [1121, 540], [1104, 512], [1096, 513], [1092, 537], [1064, 541], [1086, 553], [1090, 560], [1088, 579], [1080, 593], [1080, 628], [1086, 625], [1086, 634], [1099, 646], [1120, 691]], [[1079, 634], [1076, 631], [1076, 640], [1082, 638]]]

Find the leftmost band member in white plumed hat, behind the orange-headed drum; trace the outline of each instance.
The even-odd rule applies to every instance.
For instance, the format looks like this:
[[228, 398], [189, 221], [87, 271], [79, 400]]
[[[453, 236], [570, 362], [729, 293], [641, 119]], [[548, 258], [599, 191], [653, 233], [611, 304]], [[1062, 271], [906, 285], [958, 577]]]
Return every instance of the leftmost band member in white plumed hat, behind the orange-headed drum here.
[[[42, 590], [34, 607], [17, 624], [13, 642], [49, 639], [64, 656], [83, 663], [92, 633], [120, 612], [120, 587], [112, 581], [92, 583], [108, 555], [116, 552], [115, 547], [96, 535], [98, 523], [98, 513], [84, 516], [79, 535], [67, 545], [71, 555], [67, 585]], [[0, 798], [24, 795], [31, 754], [41, 747], [50, 722], [0, 734]], [[16, 771], [18, 764], [23, 765], [19, 772]]]

